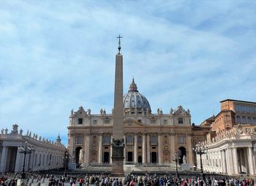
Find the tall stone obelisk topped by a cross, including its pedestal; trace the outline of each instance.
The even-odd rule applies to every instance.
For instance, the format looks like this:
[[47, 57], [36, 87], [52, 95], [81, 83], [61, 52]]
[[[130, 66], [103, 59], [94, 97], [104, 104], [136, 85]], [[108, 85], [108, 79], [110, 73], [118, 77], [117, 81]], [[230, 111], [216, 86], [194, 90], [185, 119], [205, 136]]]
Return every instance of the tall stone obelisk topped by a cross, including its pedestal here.
[[123, 106], [123, 55], [121, 55], [121, 36], [116, 55], [115, 96], [113, 112], [112, 172], [115, 177], [124, 176], [124, 106]]

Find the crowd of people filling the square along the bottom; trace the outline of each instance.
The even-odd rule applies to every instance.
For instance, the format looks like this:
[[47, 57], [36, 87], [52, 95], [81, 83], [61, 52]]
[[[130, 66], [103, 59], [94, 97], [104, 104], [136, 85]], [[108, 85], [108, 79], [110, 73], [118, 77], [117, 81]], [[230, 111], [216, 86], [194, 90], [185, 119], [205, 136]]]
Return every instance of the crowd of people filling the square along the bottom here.
[[[16, 186], [20, 174], [0, 174], [0, 185]], [[108, 175], [77, 175], [64, 177], [62, 175], [48, 174], [27, 174], [27, 182], [44, 183], [48, 186], [217, 186], [217, 185], [232, 185], [232, 186], [256, 186], [255, 179], [245, 177], [206, 177], [203, 180], [196, 176], [181, 176], [157, 174], [136, 176], [129, 174], [123, 178], [109, 177]]]

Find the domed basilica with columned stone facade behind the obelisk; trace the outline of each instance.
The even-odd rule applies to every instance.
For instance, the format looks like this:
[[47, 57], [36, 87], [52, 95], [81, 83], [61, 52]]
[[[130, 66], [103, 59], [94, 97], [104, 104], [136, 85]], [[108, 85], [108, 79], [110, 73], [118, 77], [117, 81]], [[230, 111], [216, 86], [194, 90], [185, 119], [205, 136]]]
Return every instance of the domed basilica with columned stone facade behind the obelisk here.
[[[165, 114], [161, 109], [151, 112], [145, 96], [139, 93], [132, 80], [124, 95], [124, 165], [170, 165], [176, 153], [179, 163], [194, 166], [195, 142], [206, 139], [208, 126], [191, 123], [189, 109], [182, 106]], [[69, 117], [69, 154], [83, 166], [111, 164], [113, 113], [101, 109], [92, 115], [80, 106]]]

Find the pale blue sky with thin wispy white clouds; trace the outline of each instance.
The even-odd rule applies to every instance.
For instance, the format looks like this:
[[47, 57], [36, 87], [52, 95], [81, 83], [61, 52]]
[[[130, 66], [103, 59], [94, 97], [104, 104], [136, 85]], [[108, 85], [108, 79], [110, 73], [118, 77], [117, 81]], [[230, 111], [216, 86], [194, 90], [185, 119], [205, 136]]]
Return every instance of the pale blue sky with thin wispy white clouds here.
[[155, 113], [200, 124], [226, 98], [256, 101], [256, 1], [0, 1], [0, 126], [67, 142], [71, 109], [111, 112], [121, 34]]

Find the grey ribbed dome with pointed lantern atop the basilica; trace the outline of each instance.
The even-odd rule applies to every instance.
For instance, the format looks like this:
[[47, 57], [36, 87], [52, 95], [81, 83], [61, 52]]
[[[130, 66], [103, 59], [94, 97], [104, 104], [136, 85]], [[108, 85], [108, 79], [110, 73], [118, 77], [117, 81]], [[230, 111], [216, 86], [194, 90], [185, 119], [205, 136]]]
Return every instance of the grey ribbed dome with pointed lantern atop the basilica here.
[[151, 113], [151, 108], [145, 96], [139, 93], [134, 79], [129, 85], [129, 91], [124, 95], [124, 112], [130, 114], [142, 114], [143, 112]]

